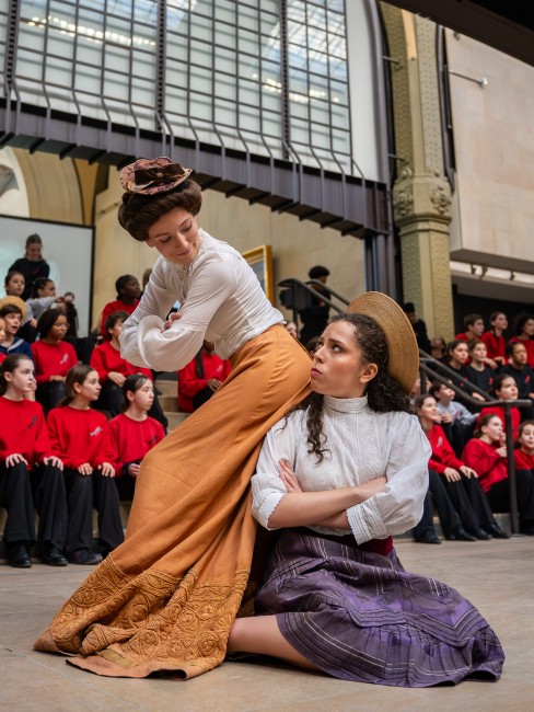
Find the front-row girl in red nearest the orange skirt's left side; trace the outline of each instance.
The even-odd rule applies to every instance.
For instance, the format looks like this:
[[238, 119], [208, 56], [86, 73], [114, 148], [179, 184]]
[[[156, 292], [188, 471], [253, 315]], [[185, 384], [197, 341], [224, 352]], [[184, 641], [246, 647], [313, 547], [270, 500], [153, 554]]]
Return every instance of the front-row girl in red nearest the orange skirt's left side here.
[[161, 423], [148, 415], [154, 401], [152, 379], [134, 374], [123, 384], [124, 413], [109, 421], [109, 439], [115, 468], [115, 483], [120, 499], [132, 499], [141, 460], [165, 432]]

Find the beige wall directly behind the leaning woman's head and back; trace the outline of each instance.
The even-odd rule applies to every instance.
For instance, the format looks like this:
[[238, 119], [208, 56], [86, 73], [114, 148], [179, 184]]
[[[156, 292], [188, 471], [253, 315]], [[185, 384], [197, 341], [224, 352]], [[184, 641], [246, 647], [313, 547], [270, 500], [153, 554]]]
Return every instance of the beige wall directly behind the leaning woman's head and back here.
[[[96, 198], [93, 314], [95, 323], [104, 305], [115, 299], [114, 283], [121, 274], [139, 279], [152, 266], [158, 253], [136, 242], [117, 222], [121, 196], [117, 172], [111, 170], [109, 187]], [[365, 290], [363, 243], [341, 237], [294, 216], [279, 215], [260, 205], [248, 205], [240, 198], [227, 198], [216, 191], [204, 193], [199, 225], [214, 238], [232, 244], [240, 252], [270, 244], [275, 284], [287, 277], [307, 279], [307, 269], [322, 264], [330, 271], [328, 284], [353, 298]], [[278, 297], [278, 289], [276, 290]], [[282, 310], [283, 311], [283, 310]], [[290, 317], [289, 312], [285, 315]]]

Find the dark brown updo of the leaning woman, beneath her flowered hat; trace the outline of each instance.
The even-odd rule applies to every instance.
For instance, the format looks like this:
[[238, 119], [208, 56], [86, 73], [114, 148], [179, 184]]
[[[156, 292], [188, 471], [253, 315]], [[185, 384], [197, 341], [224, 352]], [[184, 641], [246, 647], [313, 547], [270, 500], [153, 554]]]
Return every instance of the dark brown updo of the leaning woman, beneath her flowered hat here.
[[202, 191], [193, 179], [187, 179], [172, 191], [142, 195], [124, 193], [123, 204], [118, 208], [118, 221], [138, 242], [146, 242], [150, 228], [163, 215], [183, 208], [191, 215], [198, 215], [202, 205]]

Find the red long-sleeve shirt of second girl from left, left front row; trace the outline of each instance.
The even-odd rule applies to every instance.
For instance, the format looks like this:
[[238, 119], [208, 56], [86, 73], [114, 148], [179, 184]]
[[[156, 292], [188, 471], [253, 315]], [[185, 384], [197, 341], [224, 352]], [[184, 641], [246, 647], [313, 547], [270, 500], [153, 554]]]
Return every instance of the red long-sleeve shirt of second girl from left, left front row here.
[[54, 407], [47, 422], [54, 455], [66, 468], [76, 470], [84, 462], [97, 468], [103, 462], [113, 462], [109, 426], [103, 413], [63, 405]]

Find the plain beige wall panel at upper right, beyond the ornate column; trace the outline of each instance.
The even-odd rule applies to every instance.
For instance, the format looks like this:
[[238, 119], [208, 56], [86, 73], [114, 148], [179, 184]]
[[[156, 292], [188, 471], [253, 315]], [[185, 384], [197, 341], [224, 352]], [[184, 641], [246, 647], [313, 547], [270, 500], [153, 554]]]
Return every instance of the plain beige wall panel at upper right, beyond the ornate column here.
[[[457, 170], [453, 259], [534, 272], [534, 68], [446, 31]], [[471, 255], [472, 257], [474, 255]]]

